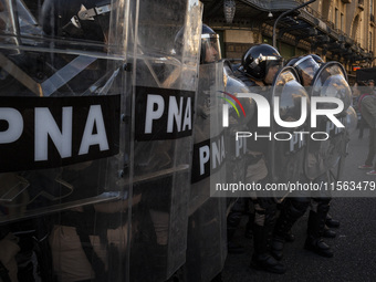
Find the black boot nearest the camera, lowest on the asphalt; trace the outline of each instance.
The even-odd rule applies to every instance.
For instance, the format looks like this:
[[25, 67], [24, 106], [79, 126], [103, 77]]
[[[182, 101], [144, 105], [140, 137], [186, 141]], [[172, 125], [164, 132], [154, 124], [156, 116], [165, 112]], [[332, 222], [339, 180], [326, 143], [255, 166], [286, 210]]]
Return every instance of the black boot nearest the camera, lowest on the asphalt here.
[[254, 253], [252, 255], [251, 268], [279, 274], [285, 273], [285, 267], [270, 254], [268, 241], [268, 227], [254, 224]]

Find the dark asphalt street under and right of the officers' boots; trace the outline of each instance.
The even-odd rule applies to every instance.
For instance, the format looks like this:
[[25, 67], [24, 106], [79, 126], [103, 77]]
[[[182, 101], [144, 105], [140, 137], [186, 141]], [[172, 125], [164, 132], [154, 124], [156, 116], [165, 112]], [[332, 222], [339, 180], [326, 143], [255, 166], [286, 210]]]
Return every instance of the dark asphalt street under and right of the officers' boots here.
[[[343, 178], [340, 180], [375, 181], [375, 176], [367, 176], [361, 170], [368, 149], [368, 129], [358, 139], [358, 129], [352, 134], [349, 155], [345, 164]], [[334, 229], [336, 238], [325, 241], [332, 247], [334, 258], [318, 257], [304, 250], [309, 212], [296, 222], [292, 231], [295, 241], [285, 244], [285, 274], [272, 274], [249, 268], [252, 255], [252, 239], [246, 239], [246, 217], [233, 241], [246, 247], [243, 254], [228, 254], [222, 280], [224, 282], [243, 281], [375, 281], [376, 263], [376, 191], [375, 198], [334, 198], [331, 216], [340, 220], [341, 227]]]

